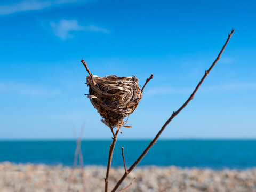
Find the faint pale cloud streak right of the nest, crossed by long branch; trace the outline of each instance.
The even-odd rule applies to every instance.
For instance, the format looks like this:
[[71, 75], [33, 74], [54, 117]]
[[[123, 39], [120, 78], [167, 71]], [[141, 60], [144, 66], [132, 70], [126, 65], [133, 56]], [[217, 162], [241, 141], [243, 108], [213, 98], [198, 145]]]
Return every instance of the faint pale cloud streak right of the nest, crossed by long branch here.
[[[148, 89], [148, 95], [168, 95], [168, 94], [189, 94], [195, 87], [156, 87]], [[241, 90], [256, 90], [256, 83], [226, 83], [221, 85], [202, 86], [201, 92], [222, 92], [222, 91], [241, 91]]]

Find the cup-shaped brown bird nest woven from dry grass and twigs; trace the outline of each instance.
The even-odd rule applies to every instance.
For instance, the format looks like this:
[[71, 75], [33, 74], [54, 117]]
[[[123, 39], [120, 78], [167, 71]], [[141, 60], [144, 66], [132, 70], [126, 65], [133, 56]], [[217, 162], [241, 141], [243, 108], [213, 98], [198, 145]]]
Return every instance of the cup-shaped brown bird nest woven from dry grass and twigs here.
[[[108, 127], [124, 126], [124, 118], [133, 113], [142, 98], [138, 78], [118, 77], [86, 77], [92, 105], [98, 110], [102, 122]], [[94, 85], [95, 84], [95, 85]]]

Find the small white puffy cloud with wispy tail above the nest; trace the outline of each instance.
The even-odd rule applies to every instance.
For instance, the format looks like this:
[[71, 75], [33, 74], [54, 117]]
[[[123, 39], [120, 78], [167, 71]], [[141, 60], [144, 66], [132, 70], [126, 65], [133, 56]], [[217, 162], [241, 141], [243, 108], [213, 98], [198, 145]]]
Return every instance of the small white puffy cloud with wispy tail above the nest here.
[[76, 20], [65, 20], [62, 19], [58, 23], [50, 23], [53, 33], [61, 39], [73, 38], [70, 34], [71, 31], [94, 31], [101, 33], [109, 33], [108, 29], [101, 28], [95, 25], [79, 25]]

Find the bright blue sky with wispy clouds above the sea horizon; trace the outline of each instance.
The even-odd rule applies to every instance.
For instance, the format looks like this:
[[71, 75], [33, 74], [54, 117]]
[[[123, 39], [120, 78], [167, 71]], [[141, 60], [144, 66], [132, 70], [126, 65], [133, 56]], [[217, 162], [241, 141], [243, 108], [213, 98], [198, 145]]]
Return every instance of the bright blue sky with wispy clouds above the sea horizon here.
[[221, 60], [161, 136], [256, 138], [255, 1], [0, 2], [0, 139], [109, 139], [84, 93], [94, 75], [149, 82], [121, 139], [153, 138], [189, 97], [234, 27]]

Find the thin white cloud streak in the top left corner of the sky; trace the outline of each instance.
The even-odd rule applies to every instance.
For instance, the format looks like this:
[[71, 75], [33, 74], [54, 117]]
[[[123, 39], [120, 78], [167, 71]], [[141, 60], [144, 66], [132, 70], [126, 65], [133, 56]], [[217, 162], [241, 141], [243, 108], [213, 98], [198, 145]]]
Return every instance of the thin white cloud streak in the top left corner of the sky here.
[[[11, 1], [10, 1], [11, 2]], [[17, 3], [1, 5], [0, 15], [12, 14], [21, 11], [41, 10], [47, 7], [78, 2], [92, 2], [92, 0], [23, 0]]]

